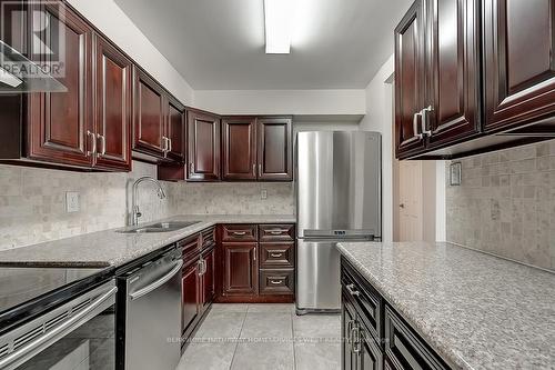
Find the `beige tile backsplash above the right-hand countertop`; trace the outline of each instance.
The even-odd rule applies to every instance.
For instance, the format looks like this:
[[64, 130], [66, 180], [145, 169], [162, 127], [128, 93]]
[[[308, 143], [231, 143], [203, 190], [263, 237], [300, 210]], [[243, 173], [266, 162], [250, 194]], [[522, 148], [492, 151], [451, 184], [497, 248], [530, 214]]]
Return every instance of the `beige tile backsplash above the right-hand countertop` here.
[[461, 186], [447, 169], [447, 240], [555, 270], [555, 140], [461, 162]]

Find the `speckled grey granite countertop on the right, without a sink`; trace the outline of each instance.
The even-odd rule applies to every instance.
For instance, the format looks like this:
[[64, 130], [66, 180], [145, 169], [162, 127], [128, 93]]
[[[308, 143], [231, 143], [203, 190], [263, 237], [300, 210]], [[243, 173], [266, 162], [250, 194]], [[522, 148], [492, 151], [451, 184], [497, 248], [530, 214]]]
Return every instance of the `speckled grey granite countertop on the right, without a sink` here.
[[450, 243], [337, 248], [453, 368], [555, 368], [554, 273]]

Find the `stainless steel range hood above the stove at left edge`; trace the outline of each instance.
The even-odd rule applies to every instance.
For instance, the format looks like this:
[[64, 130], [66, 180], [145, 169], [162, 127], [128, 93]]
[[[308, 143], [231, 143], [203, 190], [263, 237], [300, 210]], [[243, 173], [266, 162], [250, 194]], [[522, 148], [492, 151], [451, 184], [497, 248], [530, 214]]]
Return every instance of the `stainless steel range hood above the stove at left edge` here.
[[41, 66], [0, 40], [0, 93], [67, 91]]

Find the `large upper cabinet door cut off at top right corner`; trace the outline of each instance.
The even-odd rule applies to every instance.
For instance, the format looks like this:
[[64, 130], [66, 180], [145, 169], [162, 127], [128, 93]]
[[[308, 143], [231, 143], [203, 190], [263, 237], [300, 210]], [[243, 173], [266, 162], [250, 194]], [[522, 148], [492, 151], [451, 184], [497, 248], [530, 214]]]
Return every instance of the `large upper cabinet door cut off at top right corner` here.
[[555, 1], [484, 1], [486, 130], [555, 113]]

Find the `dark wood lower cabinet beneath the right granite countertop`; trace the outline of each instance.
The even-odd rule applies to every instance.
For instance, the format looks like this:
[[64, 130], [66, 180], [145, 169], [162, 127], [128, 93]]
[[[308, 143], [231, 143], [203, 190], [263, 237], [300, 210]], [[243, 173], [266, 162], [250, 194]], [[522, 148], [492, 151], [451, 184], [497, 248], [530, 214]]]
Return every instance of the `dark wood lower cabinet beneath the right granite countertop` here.
[[[448, 366], [342, 258], [342, 369], [446, 370]], [[377, 297], [376, 297], [377, 294]], [[361, 297], [375, 297], [369, 310]], [[377, 322], [376, 327], [369, 323]], [[383, 322], [382, 324], [380, 324]]]

